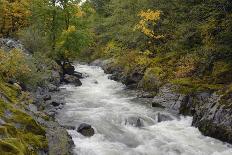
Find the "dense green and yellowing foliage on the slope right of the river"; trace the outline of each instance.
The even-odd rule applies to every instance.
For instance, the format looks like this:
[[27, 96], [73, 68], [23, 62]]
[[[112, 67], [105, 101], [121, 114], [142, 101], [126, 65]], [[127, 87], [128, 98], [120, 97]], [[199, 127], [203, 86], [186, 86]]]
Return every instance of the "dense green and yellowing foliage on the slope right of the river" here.
[[[139, 68], [144, 87], [152, 75], [157, 77], [150, 71], [156, 67], [161, 83], [172, 81], [183, 92], [218, 90], [232, 83], [231, 1], [91, 2], [97, 13], [93, 55], [115, 58], [126, 73]], [[151, 34], [162, 37], [151, 39]]]

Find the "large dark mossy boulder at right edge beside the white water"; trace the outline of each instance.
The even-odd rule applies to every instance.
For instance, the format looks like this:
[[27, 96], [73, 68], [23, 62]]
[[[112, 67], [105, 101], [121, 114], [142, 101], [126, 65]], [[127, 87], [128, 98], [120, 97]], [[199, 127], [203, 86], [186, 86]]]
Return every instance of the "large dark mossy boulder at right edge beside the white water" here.
[[194, 108], [192, 124], [204, 135], [232, 144], [232, 98], [198, 93], [191, 96], [189, 107]]

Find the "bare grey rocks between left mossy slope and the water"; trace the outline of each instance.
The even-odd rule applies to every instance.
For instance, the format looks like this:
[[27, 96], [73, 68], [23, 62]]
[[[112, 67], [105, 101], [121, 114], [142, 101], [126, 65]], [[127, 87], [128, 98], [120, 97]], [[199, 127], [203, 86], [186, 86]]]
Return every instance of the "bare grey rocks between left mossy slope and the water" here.
[[73, 84], [80, 86], [80, 78], [82, 78], [82, 74], [75, 72], [75, 68], [71, 64], [66, 64], [61, 72], [53, 71], [52, 80], [46, 87], [38, 87], [32, 93], [35, 98], [34, 105], [38, 109], [42, 109], [51, 118], [49, 121], [37, 120], [40, 124], [47, 127], [46, 136], [49, 155], [73, 154], [74, 142], [67, 132], [69, 128], [59, 124], [55, 116], [65, 104], [65, 90], [60, 90], [60, 85]]

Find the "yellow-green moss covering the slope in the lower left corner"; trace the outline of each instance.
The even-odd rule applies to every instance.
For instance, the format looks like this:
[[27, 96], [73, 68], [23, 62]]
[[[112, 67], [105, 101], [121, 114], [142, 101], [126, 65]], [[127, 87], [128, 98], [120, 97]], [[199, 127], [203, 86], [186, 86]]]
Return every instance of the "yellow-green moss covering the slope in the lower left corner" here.
[[[0, 150], [3, 155], [36, 154], [46, 149], [46, 131], [29, 114], [25, 106], [31, 102], [28, 93], [21, 93], [14, 86], [0, 81], [0, 92], [9, 98], [9, 102], [0, 98], [0, 118], [6, 124], [0, 126]], [[5, 111], [12, 113], [5, 116]], [[16, 124], [20, 126], [16, 128]]]

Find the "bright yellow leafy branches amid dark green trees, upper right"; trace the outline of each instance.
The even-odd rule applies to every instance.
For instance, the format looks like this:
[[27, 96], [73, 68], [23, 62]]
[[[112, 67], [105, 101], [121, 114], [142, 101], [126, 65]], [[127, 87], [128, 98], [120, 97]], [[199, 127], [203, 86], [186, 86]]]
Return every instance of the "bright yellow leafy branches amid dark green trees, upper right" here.
[[139, 23], [135, 26], [134, 30], [140, 30], [146, 36], [160, 39], [163, 38], [163, 35], [156, 35], [152, 29], [149, 28], [149, 23], [153, 26], [156, 25], [157, 21], [160, 20], [161, 11], [141, 11], [138, 16], [140, 17]]

